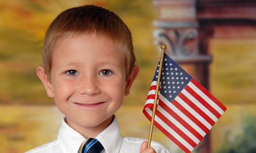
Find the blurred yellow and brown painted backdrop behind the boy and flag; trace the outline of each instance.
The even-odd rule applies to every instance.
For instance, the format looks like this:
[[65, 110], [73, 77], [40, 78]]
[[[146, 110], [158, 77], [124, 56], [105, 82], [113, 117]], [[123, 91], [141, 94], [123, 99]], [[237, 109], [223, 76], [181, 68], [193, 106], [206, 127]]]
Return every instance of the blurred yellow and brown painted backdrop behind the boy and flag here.
[[[228, 110], [193, 152], [256, 152], [256, 4], [238, 0], [0, 1], [0, 152], [25, 152], [53, 141], [63, 116], [37, 78], [51, 21], [62, 11], [94, 4], [130, 28], [140, 74], [116, 113], [124, 137], [147, 139], [142, 109], [159, 60], [167, 54]], [[156, 128], [153, 140], [182, 152]]]

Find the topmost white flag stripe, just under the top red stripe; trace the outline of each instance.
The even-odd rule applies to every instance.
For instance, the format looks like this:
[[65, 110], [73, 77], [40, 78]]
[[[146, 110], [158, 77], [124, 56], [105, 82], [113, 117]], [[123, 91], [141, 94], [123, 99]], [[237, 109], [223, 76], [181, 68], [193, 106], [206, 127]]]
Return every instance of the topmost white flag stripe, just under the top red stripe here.
[[212, 101], [207, 95], [205, 95], [200, 89], [198, 89], [193, 83], [189, 82], [187, 84], [191, 89], [195, 90], [197, 94], [199, 94], [205, 101], [209, 103], [211, 107], [213, 107], [215, 110], [217, 110], [221, 115], [224, 113], [224, 111], [214, 102]]

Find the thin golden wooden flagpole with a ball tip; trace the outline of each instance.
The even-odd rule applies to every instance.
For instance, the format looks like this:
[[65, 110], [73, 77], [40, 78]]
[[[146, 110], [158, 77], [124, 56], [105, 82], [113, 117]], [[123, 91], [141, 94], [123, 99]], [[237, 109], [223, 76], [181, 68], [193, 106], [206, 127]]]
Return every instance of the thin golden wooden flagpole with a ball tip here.
[[158, 90], [159, 90], [159, 84], [160, 84], [160, 79], [161, 79], [161, 74], [162, 74], [163, 57], [164, 57], [166, 45], [162, 44], [161, 49], [162, 49], [162, 52], [161, 52], [161, 59], [160, 59], [158, 78], [157, 78], [156, 94], [155, 94], [155, 100], [154, 100], [154, 108], [153, 108], [153, 112], [152, 112], [152, 119], [151, 119], [151, 124], [150, 124], [150, 134], [148, 135], [147, 147], [150, 147], [151, 140], [152, 140], [152, 133], [153, 133], [154, 120], [155, 120], [155, 115], [156, 115], [157, 100], [158, 100]]

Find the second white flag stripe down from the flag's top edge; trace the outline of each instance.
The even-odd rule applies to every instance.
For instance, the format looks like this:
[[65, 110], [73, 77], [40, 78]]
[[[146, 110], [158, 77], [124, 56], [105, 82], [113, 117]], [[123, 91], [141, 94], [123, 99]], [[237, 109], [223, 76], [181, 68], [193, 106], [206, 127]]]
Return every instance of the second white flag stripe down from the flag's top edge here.
[[215, 122], [218, 121], [218, 118], [212, 114], [206, 107], [204, 107], [193, 95], [187, 92], [185, 89], [181, 91], [192, 103], [194, 103], [197, 107], [200, 108], [207, 116], [209, 116]]

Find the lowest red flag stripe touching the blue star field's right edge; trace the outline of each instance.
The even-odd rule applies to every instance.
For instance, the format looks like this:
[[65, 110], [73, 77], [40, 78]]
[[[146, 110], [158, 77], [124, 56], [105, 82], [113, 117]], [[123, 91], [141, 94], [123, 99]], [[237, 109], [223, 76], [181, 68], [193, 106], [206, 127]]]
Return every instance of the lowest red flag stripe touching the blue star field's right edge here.
[[178, 101], [173, 100], [172, 103], [175, 107], [177, 107], [183, 114], [185, 114], [190, 120], [192, 120], [195, 124], [197, 124], [205, 133], [208, 133], [210, 130], [200, 122], [194, 115], [188, 112], [183, 106], [181, 106]]

